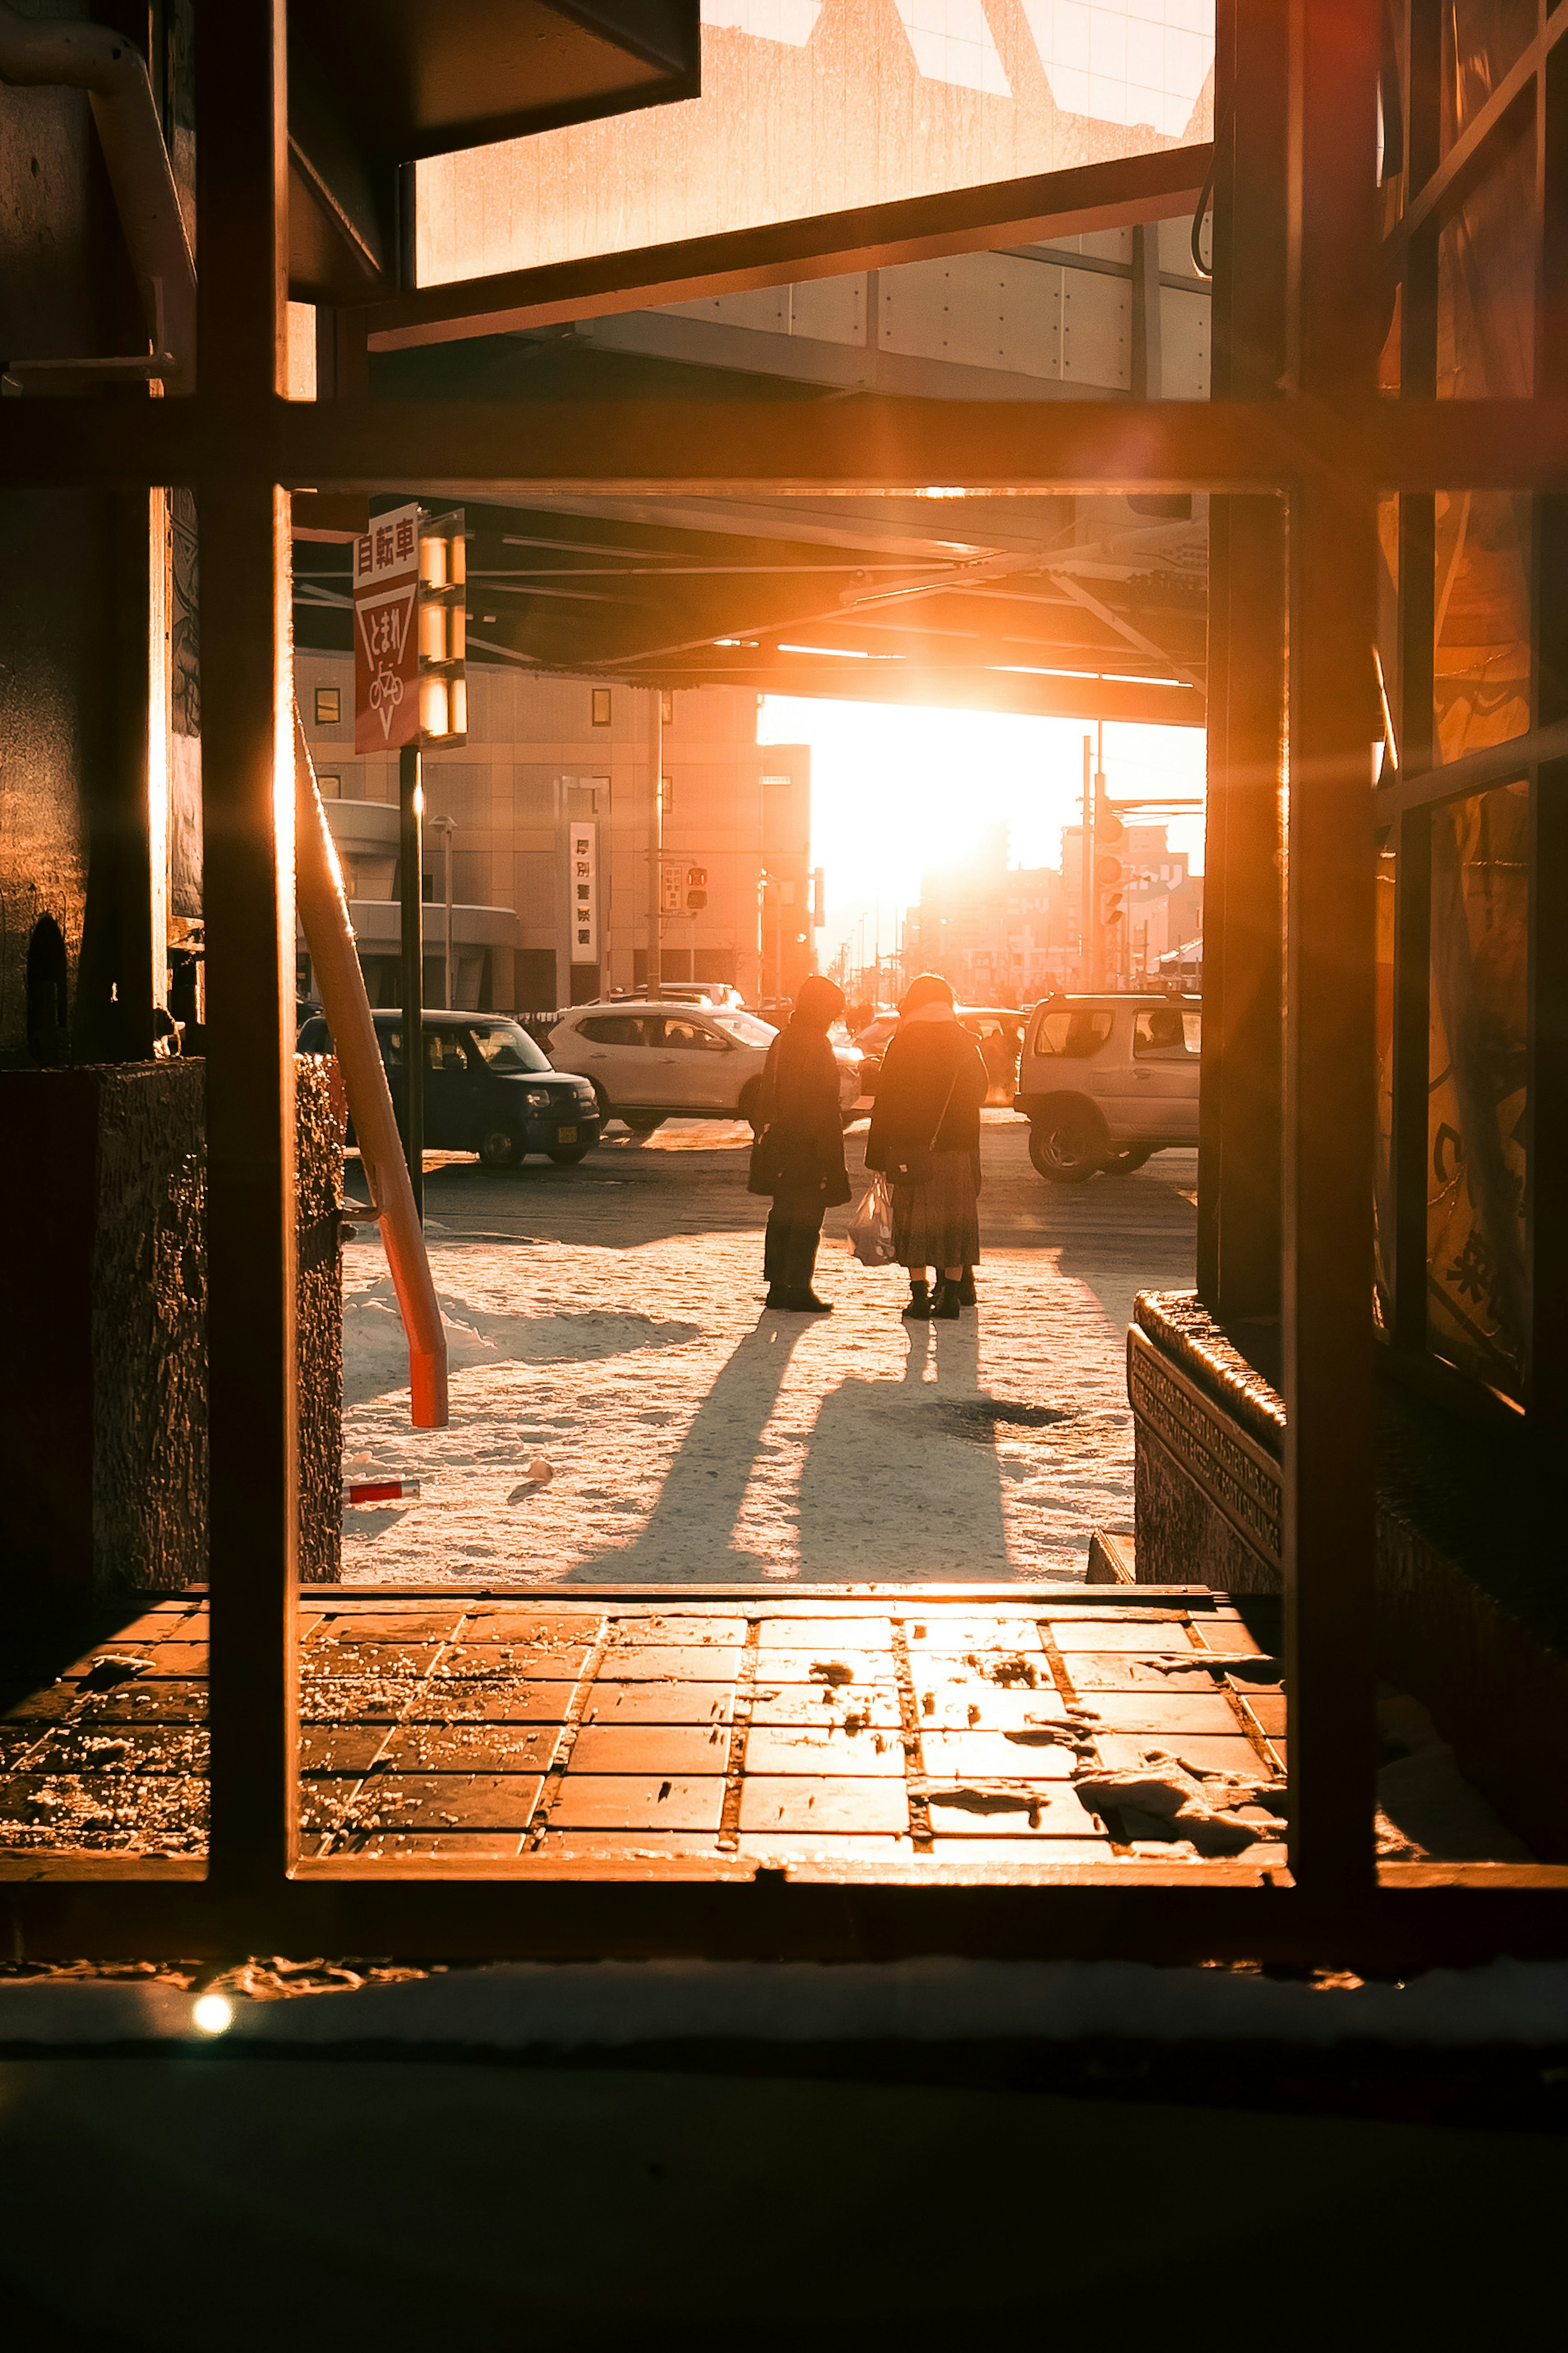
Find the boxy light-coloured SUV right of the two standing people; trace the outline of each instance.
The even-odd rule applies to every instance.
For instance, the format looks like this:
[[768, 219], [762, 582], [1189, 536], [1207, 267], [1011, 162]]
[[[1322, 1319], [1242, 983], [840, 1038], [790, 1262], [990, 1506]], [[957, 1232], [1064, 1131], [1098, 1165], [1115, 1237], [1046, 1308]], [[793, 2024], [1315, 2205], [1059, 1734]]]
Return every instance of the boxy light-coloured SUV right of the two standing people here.
[[1030, 1014], [1013, 1108], [1051, 1184], [1128, 1176], [1199, 1139], [1199, 998], [1063, 995]]

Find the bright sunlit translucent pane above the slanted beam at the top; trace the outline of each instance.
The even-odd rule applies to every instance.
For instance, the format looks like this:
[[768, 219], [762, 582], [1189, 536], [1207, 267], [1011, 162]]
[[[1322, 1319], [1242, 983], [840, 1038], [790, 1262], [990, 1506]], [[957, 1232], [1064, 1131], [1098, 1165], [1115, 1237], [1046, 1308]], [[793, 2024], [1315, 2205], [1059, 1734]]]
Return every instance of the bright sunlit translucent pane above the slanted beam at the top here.
[[418, 285], [1208, 139], [1213, 5], [708, 0], [703, 96], [418, 165]]

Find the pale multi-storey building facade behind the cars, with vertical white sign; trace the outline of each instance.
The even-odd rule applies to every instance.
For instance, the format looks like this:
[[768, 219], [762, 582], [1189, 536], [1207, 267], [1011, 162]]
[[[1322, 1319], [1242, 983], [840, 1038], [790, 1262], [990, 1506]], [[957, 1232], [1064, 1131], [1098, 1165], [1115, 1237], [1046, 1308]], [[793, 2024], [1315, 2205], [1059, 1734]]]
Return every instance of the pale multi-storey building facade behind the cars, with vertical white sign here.
[[[360, 962], [393, 1005], [397, 755], [355, 753], [348, 654], [301, 649], [296, 671]], [[423, 760], [425, 1002], [447, 1002], [447, 856], [451, 1002], [543, 1012], [646, 986], [656, 776], [665, 981], [792, 995], [811, 969], [811, 753], [759, 746], [757, 708], [741, 687], [470, 664], [468, 741]]]

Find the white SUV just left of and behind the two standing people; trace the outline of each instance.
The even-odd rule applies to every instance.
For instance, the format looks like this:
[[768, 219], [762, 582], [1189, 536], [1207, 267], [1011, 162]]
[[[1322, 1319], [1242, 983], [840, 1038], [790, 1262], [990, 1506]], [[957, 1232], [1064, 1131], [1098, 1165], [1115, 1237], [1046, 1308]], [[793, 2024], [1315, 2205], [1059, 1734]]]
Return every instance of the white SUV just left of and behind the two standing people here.
[[[670, 1005], [623, 998], [574, 1005], [550, 1031], [555, 1068], [585, 1071], [602, 1120], [649, 1136], [663, 1120], [743, 1118], [757, 1125], [757, 1087], [778, 1033], [729, 1005]], [[839, 1108], [853, 1115], [860, 1056], [835, 1047]]]

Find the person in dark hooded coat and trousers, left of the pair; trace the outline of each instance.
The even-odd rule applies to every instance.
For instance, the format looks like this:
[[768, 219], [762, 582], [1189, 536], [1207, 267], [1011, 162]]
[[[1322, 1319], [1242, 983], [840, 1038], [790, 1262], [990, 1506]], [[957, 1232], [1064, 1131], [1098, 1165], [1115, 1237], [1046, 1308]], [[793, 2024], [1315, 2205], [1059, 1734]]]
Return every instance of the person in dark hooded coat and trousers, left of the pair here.
[[762, 1071], [752, 1193], [771, 1193], [762, 1271], [769, 1306], [790, 1315], [832, 1315], [811, 1289], [823, 1214], [849, 1200], [839, 1064], [827, 1028], [844, 1012], [844, 991], [813, 972], [773, 1038]]

